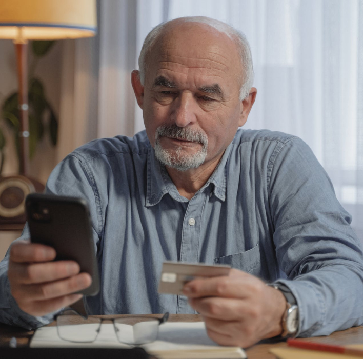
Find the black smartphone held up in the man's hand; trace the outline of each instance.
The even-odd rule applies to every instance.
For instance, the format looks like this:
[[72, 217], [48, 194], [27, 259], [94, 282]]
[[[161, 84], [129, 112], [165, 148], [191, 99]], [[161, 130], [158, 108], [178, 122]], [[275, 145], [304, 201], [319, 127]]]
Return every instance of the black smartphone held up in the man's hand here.
[[25, 206], [31, 242], [53, 247], [57, 252], [55, 261], [77, 262], [80, 271], [92, 277], [91, 286], [77, 293], [96, 295], [99, 275], [87, 202], [76, 197], [31, 193]]

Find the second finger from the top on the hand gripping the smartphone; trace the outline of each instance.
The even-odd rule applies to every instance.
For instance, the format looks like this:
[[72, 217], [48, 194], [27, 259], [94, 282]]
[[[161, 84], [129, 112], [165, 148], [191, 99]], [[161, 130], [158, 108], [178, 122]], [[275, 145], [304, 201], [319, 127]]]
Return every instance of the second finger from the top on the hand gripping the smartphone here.
[[9, 277], [19, 284], [54, 282], [79, 273], [79, 265], [74, 261], [47, 263], [9, 264]]

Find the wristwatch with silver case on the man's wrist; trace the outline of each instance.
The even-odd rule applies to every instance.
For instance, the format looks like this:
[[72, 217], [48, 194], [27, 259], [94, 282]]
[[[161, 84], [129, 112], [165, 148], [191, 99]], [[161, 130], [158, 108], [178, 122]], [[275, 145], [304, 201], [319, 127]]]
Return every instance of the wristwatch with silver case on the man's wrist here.
[[269, 286], [279, 290], [286, 299], [286, 310], [283, 315], [281, 326], [283, 332], [281, 333], [282, 338], [295, 337], [297, 330], [299, 329], [299, 308], [297, 306], [296, 299], [291, 293], [291, 290], [284, 284], [272, 283]]

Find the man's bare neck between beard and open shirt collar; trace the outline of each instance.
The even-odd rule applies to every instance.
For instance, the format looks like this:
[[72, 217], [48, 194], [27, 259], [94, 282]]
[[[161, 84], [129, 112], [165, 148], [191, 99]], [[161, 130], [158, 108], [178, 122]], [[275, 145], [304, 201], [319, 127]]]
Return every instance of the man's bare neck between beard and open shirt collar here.
[[207, 162], [198, 168], [192, 168], [185, 172], [180, 172], [167, 166], [165, 166], [165, 168], [179, 194], [188, 198], [188, 200], [191, 200], [194, 194], [207, 183], [209, 177], [218, 166], [222, 156], [223, 153], [221, 153], [220, 156], [215, 158], [213, 161]]

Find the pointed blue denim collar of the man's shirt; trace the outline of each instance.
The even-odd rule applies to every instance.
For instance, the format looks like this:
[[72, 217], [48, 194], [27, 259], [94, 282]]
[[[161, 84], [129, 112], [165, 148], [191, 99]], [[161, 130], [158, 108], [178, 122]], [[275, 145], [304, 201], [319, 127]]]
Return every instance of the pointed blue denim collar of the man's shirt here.
[[[208, 179], [207, 183], [199, 189], [199, 192], [204, 191], [205, 188], [214, 185], [213, 193], [219, 200], [226, 200], [226, 183], [227, 183], [227, 161], [231, 151], [232, 143], [226, 148], [218, 166]], [[148, 163], [147, 163], [147, 193], [145, 206], [151, 207], [159, 203], [164, 194], [169, 193], [174, 200], [178, 202], [188, 202], [189, 200], [180, 196], [176, 186], [169, 177], [169, 174], [164, 165], [162, 165], [156, 158], [155, 152], [151, 144], [149, 144]], [[197, 194], [196, 193], [196, 194]]]

